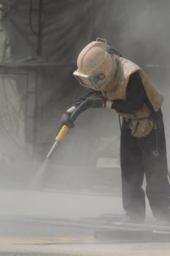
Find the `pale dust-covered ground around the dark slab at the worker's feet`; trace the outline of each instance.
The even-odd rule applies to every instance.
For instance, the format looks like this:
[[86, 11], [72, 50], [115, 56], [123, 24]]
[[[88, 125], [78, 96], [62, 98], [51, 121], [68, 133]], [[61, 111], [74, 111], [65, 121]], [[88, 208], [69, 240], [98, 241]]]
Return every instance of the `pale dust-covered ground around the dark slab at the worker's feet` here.
[[94, 229], [58, 225], [61, 220], [123, 214], [120, 196], [1, 189], [0, 205], [0, 255], [170, 255], [170, 241], [96, 241]]

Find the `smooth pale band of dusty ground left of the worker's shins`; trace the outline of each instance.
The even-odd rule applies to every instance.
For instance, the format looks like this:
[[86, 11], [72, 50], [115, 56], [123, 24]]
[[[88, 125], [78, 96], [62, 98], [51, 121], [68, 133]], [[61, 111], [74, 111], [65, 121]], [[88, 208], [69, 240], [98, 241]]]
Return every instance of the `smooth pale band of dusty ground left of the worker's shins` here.
[[120, 196], [88, 192], [0, 190], [0, 216], [39, 218], [96, 217], [123, 214]]

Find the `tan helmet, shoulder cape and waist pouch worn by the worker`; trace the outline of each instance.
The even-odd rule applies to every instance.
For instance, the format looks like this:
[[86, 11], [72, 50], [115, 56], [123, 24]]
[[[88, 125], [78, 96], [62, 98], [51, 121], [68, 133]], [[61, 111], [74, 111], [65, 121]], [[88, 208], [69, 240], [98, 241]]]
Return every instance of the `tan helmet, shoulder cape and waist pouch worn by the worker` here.
[[[128, 80], [134, 72], [139, 72], [144, 85], [144, 91], [150, 100], [153, 110], [158, 111], [163, 102], [163, 96], [150, 83], [139, 66], [132, 61], [107, 52], [109, 46], [106, 42], [90, 42], [82, 49], [77, 58], [77, 71], [74, 76], [82, 86], [101, 91], [105, 99], [126, 99]], [[136, 137], [144, 137], [151, 132], [153, 121], [151, 110], [146, 104], [134, 113], [120, 113], [120, 116], [131, 121], [131, 133]]]

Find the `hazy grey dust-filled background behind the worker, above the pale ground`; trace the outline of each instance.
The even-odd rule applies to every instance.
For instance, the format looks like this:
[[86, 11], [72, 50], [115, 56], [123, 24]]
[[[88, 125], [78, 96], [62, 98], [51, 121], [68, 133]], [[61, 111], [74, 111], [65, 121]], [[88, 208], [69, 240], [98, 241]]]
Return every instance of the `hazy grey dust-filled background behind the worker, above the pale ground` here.
[[[139, 64], [163, 93], [169, 158], [170, 2], [44, 0], [40, 28], [39, 1], [32, 1], [36, 12], [31, 11], [30, 3], [0, 0], [1, 62], [15, 67], [7, 69], [2, 65], [0, 69], [4, 179], [9, 183], [9, 176], [14, 178], [14, 173], [18, 173], [18, 186], [31, 182], [53, 145], [63, 111], [74, 105], [82, 93], [72, 72], [80, 50], [96, 37], [107, 38], [109, 45]], [[21, 67], [16, 69], [18, 61]], [[55, 67], [50, 65], [52, 61]], [[34, 69], [22, 67], [35, 63]], [[38, 67], [39, 63], [44, 63], [44, 67]], [[51, 175], [48, 172], [44, 184], [51, 187], [54, 183], [55, 187], [59, 181], [65, 187], [119, 190], [119, 139], [115, 111], [87, 110], [75, 121], [74, 129], [50, 160]], [[9, 187], [13, 182], [14, 179]]]

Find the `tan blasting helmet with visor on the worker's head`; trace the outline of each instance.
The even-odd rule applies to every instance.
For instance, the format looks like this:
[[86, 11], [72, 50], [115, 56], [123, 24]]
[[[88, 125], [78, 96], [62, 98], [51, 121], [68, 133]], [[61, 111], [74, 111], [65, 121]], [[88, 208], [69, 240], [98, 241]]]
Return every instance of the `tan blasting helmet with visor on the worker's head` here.
[[77, 70], [73, 72], [82, 86], [101, 90], [112, 80], [116, 64], [108, 48], [106, 39], [97, 38], [82, 49], [77, 58]]

